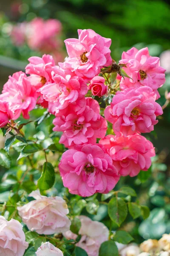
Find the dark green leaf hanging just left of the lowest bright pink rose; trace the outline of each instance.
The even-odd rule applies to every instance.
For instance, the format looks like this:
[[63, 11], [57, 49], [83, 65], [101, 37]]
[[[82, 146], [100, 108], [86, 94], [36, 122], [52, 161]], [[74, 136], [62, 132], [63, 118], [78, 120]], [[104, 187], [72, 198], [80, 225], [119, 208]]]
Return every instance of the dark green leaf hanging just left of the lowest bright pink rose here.
[[55, 182], [54, 167], [51, 163], [45, 162], [42, 169], [42, 174], [38, 180], [38, 187], [40, 190], [50, 189]]

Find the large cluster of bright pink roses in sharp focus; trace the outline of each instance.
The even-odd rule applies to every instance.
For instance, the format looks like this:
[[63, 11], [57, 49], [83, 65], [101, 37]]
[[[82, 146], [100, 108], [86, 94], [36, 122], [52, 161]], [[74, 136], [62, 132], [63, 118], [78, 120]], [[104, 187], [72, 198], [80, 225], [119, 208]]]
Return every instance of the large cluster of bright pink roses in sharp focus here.
[[[127, 77], [118, 72], [120, 90], [104, 117], [97, 99], [107, 97], [114, 86], [104, 72], [105, 67], [112, 72], [114, 63], [111, 39], [91, 29], [78, 29], [78, 35], [65, 40], [68, 58], [58, 66], [51, 55], [31, 57], [27, 75], [17, 72], [9, 77], [0, 95], [0, 127], [21, 113], [28, 119], [36, 104], [48, 108], [55, 116], [54, 131], [62, 132], [59, 143], [68, 148], [59, 163], [64, 186], [85, 197], [108, 193], [121, 175], [133, 177], [150, 167], [155, 151], [141, 133], [153, 131], [156, 117], [163, 113], [156, 99], [165, 70], [147, 48], [123, 52], [116, 65]], [[113, 124], [115, 135], [105, 137], [106, 120]]]

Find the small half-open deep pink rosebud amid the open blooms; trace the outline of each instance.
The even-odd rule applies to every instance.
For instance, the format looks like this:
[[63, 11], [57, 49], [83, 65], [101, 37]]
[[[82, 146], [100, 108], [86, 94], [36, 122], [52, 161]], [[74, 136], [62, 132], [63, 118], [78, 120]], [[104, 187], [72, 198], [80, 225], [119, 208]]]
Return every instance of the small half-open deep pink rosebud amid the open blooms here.
[[104, 83], [104, 77], [95, 76], [93, 79], [91, 79], [88, 89], [91, 90], [94, 96], [102, 97], [108, 92], [108, 87]]

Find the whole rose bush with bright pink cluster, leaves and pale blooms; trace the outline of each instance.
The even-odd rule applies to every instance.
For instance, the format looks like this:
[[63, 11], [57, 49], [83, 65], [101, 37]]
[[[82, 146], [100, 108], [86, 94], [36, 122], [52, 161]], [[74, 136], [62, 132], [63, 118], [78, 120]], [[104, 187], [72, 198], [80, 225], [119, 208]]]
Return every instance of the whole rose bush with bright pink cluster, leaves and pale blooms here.
[[[50, 24], [54, 47], [50, 35], [60, 28]], [[35, 27], [46, 25], [38, 19]], [[11, 190], [0, 204], [3, 256], [118, 256], [119, 244], [133, 240], [125, 219], [149, 216], [122, 180], [138, 175], [139, 183], [150, 173], [155, 148], [141, 133], [154, 131], [163, 113], [156, 99], [165, 70], [147, 48], [133, 47], [116, 64], [110, 38], [92, 29], [78, 35], [65, 40], [64, 62], [29, 58], [26, 73], [10, 76], [0, 95], [0, 165], [9, 169], [3, 186]], [[29, 41], [43, 49], [41, 42]], [[159, 244], [167, 252], [168, 243], [164, 235], [156, 250]], [[123, 248], [122, 255], [148, 253], [150, 241], [140, 248]]]

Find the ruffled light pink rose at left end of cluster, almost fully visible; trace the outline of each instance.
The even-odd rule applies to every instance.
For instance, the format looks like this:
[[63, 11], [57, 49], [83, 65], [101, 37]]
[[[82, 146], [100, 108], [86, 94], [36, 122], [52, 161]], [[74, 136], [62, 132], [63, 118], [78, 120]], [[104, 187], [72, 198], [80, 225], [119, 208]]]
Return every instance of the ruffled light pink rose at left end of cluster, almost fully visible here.
[[9, 103], [9, 108], [14, 113], [15, 119], [21, 113], [25, 119], [29, 119], [28, 112], [34, 109], [38, 95], [26, 74], [20, 71], [9, 76], [2, 92], [0, 100]]

